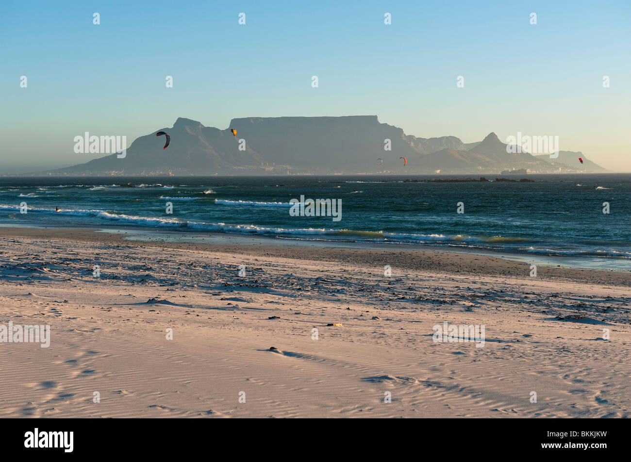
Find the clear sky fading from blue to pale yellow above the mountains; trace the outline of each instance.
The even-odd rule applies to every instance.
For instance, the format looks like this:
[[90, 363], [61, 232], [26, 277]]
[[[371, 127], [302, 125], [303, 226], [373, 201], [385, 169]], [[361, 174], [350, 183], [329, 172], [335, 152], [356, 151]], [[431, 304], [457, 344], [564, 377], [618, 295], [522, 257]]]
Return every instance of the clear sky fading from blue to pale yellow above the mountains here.
[[177, 117], [352, 115], [464, 143], [558, 136], [631, 172], [628, 0], [4, 0], [2, 13], [0, 174], [101, 157], [74, 153], [86, 131], [130, 145]]

